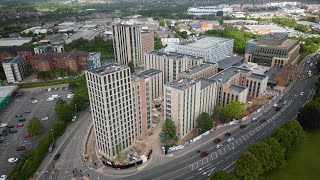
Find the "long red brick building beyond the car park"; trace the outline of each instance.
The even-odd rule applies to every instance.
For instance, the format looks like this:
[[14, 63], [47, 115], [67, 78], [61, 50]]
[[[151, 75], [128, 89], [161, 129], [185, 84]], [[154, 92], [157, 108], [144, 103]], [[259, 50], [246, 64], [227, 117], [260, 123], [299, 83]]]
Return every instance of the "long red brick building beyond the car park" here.
[[49, 51], [33, 55], [31, 67], [34, 72], [67, 68], [79, 72], [87, 68], [87, 59], [88, 53], [77, 49], [70, 52]]

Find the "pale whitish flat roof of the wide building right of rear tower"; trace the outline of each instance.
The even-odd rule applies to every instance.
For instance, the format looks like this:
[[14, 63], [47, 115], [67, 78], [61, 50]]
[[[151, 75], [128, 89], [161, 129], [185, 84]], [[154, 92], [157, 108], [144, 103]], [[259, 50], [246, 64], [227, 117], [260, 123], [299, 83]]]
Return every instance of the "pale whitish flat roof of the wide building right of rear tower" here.
[[210, 47], [217, 47], [221, 43], [226, 42], [226, 41], [231, 41], [231, 40], [233, 40], [233, 39], [212, 36], [212, 37], [199, 38], [196, 41], [185, 42], [184, 44], [181, 44], [181, 45], [206, 49], [206, 48], [210, 48]]

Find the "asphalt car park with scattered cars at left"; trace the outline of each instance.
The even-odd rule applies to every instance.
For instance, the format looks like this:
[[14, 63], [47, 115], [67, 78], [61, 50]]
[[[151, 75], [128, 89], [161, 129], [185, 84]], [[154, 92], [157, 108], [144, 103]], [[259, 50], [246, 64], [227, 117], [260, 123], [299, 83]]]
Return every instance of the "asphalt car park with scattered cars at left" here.
[[[19, 90], [19, 92], [23, 92], [23, 95], [13, 98], [4, 110], [0, 112], [1, 123], [14, 126], [10, 128], [10, 131], [17, 130], [16, 133], [10, 133], [8, 132], [9, 130], [6, 131], [6, 129], [9, 128], [0, 128], [0, 134], [4, 138], [2, 143], [0, 143], [0, 175], [8, 175], [14, 168], [16, 162], [9, 163], [8, 159], [22, 156], [24, 149], [22, 148], [21, 150], [21, 147], [25, 147], [27, 150], [33, 149], [50, 130], [55, 120], [54, 107], [56, 99], [53, 101], [46, 100], [52, 95], [59, 95], [62, 99], [67, 100], [67, 94], [70, 91], [67, 89], [67, 85], [51, 86], [50, 92], [48, 88], [49, 87]], [[38, 102], [34, 101], [34, 103], [32, 103], [32, 99]], [[16, 117], [17, 115], [22, 116]], [[40, 120], [47, 119], [42, 120], [45, 126], [44, 133], [36, 139], [25, 137], [27, 134], [27, 124], [33, 117], [38, 117]], [[25, 119], [25, 121], [21, 121], [21, 119]], [[18, 127], [17, 124], [19, 123], [23, 123], [23, 126]], [[21, 151], [17, 151], [18, 148], [20, 148]]]

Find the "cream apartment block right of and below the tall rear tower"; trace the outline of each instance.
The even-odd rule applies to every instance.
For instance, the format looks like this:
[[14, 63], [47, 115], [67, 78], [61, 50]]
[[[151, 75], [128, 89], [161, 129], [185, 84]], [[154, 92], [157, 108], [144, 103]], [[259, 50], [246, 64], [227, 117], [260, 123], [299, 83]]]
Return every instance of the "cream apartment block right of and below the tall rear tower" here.
[[144, 68], [162, 71], [164, 83], [178, 80], [183, 71], [204, 62], [201, 57], [160, 51], [148, 52], [144, 57]]

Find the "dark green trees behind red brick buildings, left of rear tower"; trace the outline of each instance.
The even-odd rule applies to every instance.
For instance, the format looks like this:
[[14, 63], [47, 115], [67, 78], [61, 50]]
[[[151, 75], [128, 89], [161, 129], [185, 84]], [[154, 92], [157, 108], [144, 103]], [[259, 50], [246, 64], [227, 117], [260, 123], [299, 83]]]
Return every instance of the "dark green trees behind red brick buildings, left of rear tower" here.
[[83, 38], [77, 39], [65, 44], [64, 49], [65, 51], [78, 49], [86, 52], [101, 52], [102, 59], [110, 59], [114, 55], [112, 40], [104, 40], [101, 36], [96, 36], [90, 41]]

